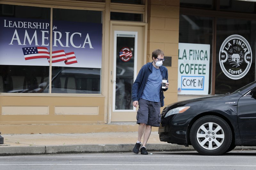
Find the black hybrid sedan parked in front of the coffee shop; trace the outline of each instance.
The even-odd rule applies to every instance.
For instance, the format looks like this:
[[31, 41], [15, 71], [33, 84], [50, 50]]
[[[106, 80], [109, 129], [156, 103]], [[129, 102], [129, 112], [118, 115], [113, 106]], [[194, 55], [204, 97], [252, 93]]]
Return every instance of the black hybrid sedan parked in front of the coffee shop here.
[[256, 81], [231, 94], [173, 103], [161, 118], [160, 141], [192, 145], [203, 155], [256, 146]]

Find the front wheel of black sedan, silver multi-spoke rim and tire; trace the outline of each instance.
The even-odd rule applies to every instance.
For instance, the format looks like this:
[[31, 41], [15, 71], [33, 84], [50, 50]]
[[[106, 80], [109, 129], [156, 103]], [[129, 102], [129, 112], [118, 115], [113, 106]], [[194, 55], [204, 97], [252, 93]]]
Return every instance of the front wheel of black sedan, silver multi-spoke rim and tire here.
[[190, 141], [202, 155], [221, 155], [232, 143], [232, 132], [228, 123], [218, 116], [199, 118], [191, 127]]

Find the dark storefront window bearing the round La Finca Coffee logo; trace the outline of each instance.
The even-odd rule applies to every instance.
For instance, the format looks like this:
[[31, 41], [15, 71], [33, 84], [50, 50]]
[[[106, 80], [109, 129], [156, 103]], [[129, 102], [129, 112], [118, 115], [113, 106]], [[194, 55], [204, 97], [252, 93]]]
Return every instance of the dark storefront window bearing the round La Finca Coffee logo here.
[[233, 92], [255, 79], [256, 22], [218, 18], [215, 94]]

